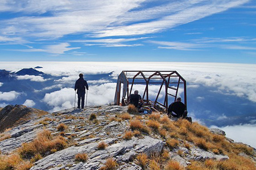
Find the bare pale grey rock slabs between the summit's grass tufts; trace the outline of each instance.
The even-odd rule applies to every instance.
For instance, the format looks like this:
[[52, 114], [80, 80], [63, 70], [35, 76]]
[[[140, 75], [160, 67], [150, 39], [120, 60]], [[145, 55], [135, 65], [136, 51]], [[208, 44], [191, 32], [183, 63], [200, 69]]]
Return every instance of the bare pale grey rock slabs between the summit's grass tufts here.
[[[12, 111], [13, 107], [5, 108]], [[23, 108], [22, 106], [16, 107]], [[31, 111], [30, 108], [23, 108], [24, 111]], [[207, 159], [226, 160], [229, 159], [224, 154], [214, 154], [210, 150], [204, 150], [188, 142], [190, 147], [184, 147], [184, 141], [176, 147], [169, 148], [167, 139], [159, 135], [154, 129], [150, 133], [144, 133], [125, 140], [123, 138], [126, 131], [131, 130], [130, 120], [121, 118], [121, 114], [127, 111], [127, 107], [113, 105], [94, 106], [85, 109], [65, 109], [63, 111], [41, 115], [31, 118], [13, 129], [9, 129], [2, 135], [9, 135], [10, 138], [0, 141], [2, 154], [11, 154], [22, 146], [22, 143], [31, 142], [36, 138], [42, 129], [48, 129], [53, 136], [63, 135], [68, 142], [68, 147], [63, 150], [47, 153], [44, 158], [34, 163], [31, 170], [38, 169], [100, 169], [106, 159], [113, 158], [117, 164], [117, 169], [139, 170], [142, 169], [135, 161], [139, 154], [146, 154], [148, 158], [154, 154], [168, 151], [171, 160], [179, 162], [183, 167], [187, 167], [193, 161], [204, 161]], [[90, 115], [96, 114], [96, 119], [89, 120]], [[135, 119], [136, 115], [130, 115]], [[164, 115], [162, 115], [164, 116]], [[148, 116], [141, 115], [139, 120], [146, 124]], [[58, 131], [57, 126], [65, 124], [67, 129]], [[225, 132], [213, 129], [214, 134], [224, 135]], [[228, 141], [228, 140], [226, 140]], [[101, 142], [106, 143], [104, 149], [99, 149]], [[85, 153], [88, 159], [84, 162], [77, 162], [75, 156]], [[180, 154], [182, 153], [182, 154]], [[245, 154], [244, 154], [245, 155]], [[246, 155], [245, 155], [246, 156]]]

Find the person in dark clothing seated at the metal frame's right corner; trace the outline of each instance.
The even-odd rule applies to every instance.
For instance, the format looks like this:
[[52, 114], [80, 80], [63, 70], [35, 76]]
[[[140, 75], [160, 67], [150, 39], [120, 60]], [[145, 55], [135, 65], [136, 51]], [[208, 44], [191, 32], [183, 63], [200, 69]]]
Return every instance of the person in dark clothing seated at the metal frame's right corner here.
[[185, 111], [186, 105], [181, 102], [181, 98], [177, 97], [176, 101], [169, 105], [168, 107], [168, 116], [172, 115], [177, 118], [187, 117], [188, 112]]

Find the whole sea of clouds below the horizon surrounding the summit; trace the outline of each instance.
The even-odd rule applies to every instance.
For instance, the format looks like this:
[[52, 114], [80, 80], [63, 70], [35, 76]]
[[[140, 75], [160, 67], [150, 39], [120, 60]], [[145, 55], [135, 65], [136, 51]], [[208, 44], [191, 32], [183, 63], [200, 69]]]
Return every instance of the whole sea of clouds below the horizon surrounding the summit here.
[[[78, 78], [79, 73], [83, 74], [105, 74], [112, 73], [110, 79], [98, 79], [89, 80], [89, 91], [88, 91], [88, 105], [101, 105], [109, 104], [114, 100], [115, 86], [117, 76], [122, 70], [176, 70], [179, 74], [187, 80], [188, 90], [193, 94], [192, 97], [188, 98], [188, 111], [189, 103], [193, 104], [204, 103], [208, 97], [225, 96], [241, 99], [243, 103], [234, 103], [238, 108], [250, 105], [254, 107], [256, 103], [256, 66], [250, 64], [235, 64], [235, 63], [173, 63], [173, 62], [1, 62], [0, 69], [6, 69], [9, 71], [19, 71], [23, 68], [30, 68], [35, 66], [42, 66], [43, 71], [46, 74], [53, 76], [65, 76], [60, 79], [56, 79], [57, 84], [46, 87], [46, 89], [40, 91], [57, 89], [53, 92], [46, 93], [41, 102], [48, 105], [49, 112], [59, 111], [61, 109], [67, 109], [74, 107], [75, 91], [73, 89], [75, 80]], [[42, 76], [18, 76], [18, 79], [29, 79], [31, 81], [45, 82], [48, 79], [44, 79]], [[0, 87], [2, 86], [0, 80]], [[67, 86], [68, 84], [68, 86]], [[201, 88], [208, 88], [210, 91], [200, 91]], [[142, 85], [135, 86], [139, 91], [143, 91]], [[135, 89], [134, 88], [134, 89]], [[157, 86], [150, 86], [150, 97], [155, 96], [158, 92]], [[180, 92], [182, 93], [182, 91]], [[0, 107], [4, 107], [9, 104], [11, 100], [24, 94], [16, 91], [2, 92], [0, 91]], [[189, 94], [188, 94], [189, 95]], [[25, 97], [26, 95], [24, 95]], [[223, 97], [224, 96], [224, 97]], [[163, 99], [164, 94], [160, 94], [160, 99]], [[221, 103], [221, 100], [220, 103]], [[227, 98], [230, 99], [230, 98]], [[218, 99], [215, 99], [218, 101]], [[225, 101], [228, 103], [228, 101]], [[30, 96], [26, 96], [26, 101], [21, 103], [28, 107], [33, 107], [36, 103], [30, 99]], [[208, 102], [208, 105], [211, 103]], [[211, 105], [218, 105], [212, 103]], [[229, 118], [229, 109], [218, 108], [220, 113], [216, 117], [216, 121], [222, 121]], [[232, 109], [230, 109], [231, 111]], [[211, 111], [200, 108], [196, 111], [189, 111], [189, 116], [193, 118], [193, 121], [199, 121], [204, 124], [203, 118], [200, 118], [199, 112], [204, 116], [213, 116]], [[255, 111], [254, 111], [255, 113]], [[243, 113], [241, 113], [243, 114]], [[251, 117], [250, 124], [241, 125], [229, 125], [218, 127], [226, 131], [227, 137], [241, 141], [256, 147], [253, 141], [256, 137], [251, 134], [256, 133], [256, 115]], [[216, 126], [214, 126], [216, 127]]]

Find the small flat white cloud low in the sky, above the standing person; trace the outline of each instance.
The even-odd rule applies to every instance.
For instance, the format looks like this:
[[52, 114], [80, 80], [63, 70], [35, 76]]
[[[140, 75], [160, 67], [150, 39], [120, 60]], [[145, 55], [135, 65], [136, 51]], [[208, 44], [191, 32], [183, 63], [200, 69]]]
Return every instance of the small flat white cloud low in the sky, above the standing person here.
[[68, 46], [70, 46], [70, 44], [68, 44], [67, 42], [63, 42], [60, 44], [45, 46], [44, 49], [30, 48], [30, 49], [13, 49], [13, 50], [19, 51], [19, 52], [46, 52], [46, 53], [52, 53], [52, 54], [64, 54], [64, 52], [67, 52], [69, 50], [80, 49], [80, 47], [68, 48]]

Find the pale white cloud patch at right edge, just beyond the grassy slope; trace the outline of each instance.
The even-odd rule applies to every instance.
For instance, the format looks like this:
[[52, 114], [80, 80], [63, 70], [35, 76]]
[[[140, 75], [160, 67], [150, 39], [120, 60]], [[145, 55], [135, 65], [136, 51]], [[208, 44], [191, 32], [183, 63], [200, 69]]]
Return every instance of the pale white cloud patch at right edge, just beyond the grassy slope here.
[[[218, 128], [212, 126], [211, 128]], [[256, 148], [256, 125], [235, 125], [235, 126], [225, 126], [221, 127], [226, 132], [226, 137], [233, 139], [236, 142], [243, 142]]]

